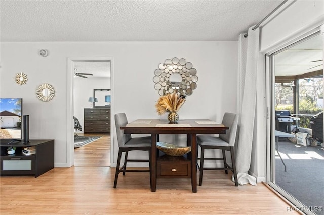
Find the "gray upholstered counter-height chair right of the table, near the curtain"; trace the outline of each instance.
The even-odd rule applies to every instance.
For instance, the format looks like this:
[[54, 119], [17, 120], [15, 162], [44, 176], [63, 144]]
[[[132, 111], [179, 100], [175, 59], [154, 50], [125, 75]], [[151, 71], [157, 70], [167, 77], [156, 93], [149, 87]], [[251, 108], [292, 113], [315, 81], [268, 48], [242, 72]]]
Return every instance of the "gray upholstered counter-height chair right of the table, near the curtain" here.
[[[235, 186], [238, 186], [237, 182], [237, 173], [235, 166], [235, 155], [234, 155], [234, 145], [237, 131], [237, 123], [238, 123], [238, 115], [233, 113], [225, 113], [222, 124], [229, 127], [226, 130], [226, 134], [220, 134], [219, 137], [208, 136], [208, 135], [199, 135], [197, 136], [197, 144], [201, 148], [200, 153], [200, 165], [197, 166], [200, 172], [199, 175], [199, 185], [203, 183], [203, 171], [204, 170], [225, 170], [227, 174], [228, 170], [231, 170], [234, 174]], [[199, 147], [198, 147], [199, 149]], [[206, 149], [220, 149], [222, 150], [223, 157], [222, 158], [205, 158], [204, 152]], [[230, 151], [232, 158], [232, 166], [229, 166], [226, 162], [225, 151]], [[212, 168], [204, 168], [204, 160], [223, 160], [224, 167], [212, 167]]]

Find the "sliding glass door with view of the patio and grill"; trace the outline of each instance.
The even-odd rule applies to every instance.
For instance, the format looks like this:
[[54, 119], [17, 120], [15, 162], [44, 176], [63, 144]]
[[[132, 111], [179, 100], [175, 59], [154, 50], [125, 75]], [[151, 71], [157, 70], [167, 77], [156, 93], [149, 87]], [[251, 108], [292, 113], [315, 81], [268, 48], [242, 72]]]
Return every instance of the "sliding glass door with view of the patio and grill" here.
[[323, 40], [315, 32], [267, 57], [268, 183], [297, 205], [324, 214]]

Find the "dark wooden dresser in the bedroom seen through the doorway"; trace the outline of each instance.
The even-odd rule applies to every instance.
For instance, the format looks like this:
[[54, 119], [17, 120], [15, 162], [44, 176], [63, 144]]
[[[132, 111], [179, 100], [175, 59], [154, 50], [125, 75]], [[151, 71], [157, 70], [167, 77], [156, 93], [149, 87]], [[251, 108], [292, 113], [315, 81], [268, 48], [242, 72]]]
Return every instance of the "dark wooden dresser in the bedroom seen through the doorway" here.
[[85, 108], [84, 134], [110, 134], [110, 107]]

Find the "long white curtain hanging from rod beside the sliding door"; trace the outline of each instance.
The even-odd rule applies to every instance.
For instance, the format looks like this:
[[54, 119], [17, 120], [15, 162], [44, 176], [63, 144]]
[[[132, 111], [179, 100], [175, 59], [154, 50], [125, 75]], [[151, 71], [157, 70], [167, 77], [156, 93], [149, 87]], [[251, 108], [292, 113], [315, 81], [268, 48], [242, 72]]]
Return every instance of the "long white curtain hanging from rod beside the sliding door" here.
[[[257, 185], [249, 175], [253, 141], [253, 129], [257, 95], [257, 68], [259, 56], [259, 28], [249, 28], [248, 37], [238, 39], [238, 102], [239, 135], [236, 148], [236, 172], [238, 184]], [[234, 180], [234, 178], [233, 178]]]

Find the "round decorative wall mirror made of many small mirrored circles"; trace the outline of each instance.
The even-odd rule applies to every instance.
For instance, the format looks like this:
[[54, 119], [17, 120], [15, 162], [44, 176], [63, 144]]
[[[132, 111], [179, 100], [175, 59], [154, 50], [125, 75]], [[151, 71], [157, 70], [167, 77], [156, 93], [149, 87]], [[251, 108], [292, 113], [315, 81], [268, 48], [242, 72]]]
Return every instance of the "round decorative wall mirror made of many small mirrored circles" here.
[[167, 93], [178, 93], [181, 95], [191, 95], [192, 90], [197, 88], [197, 70], [192, 68], [192, 63], [184, 58], [172, 58], [158, 64], [158, 69], [154, 71], [154, 88], [159, 95]]

